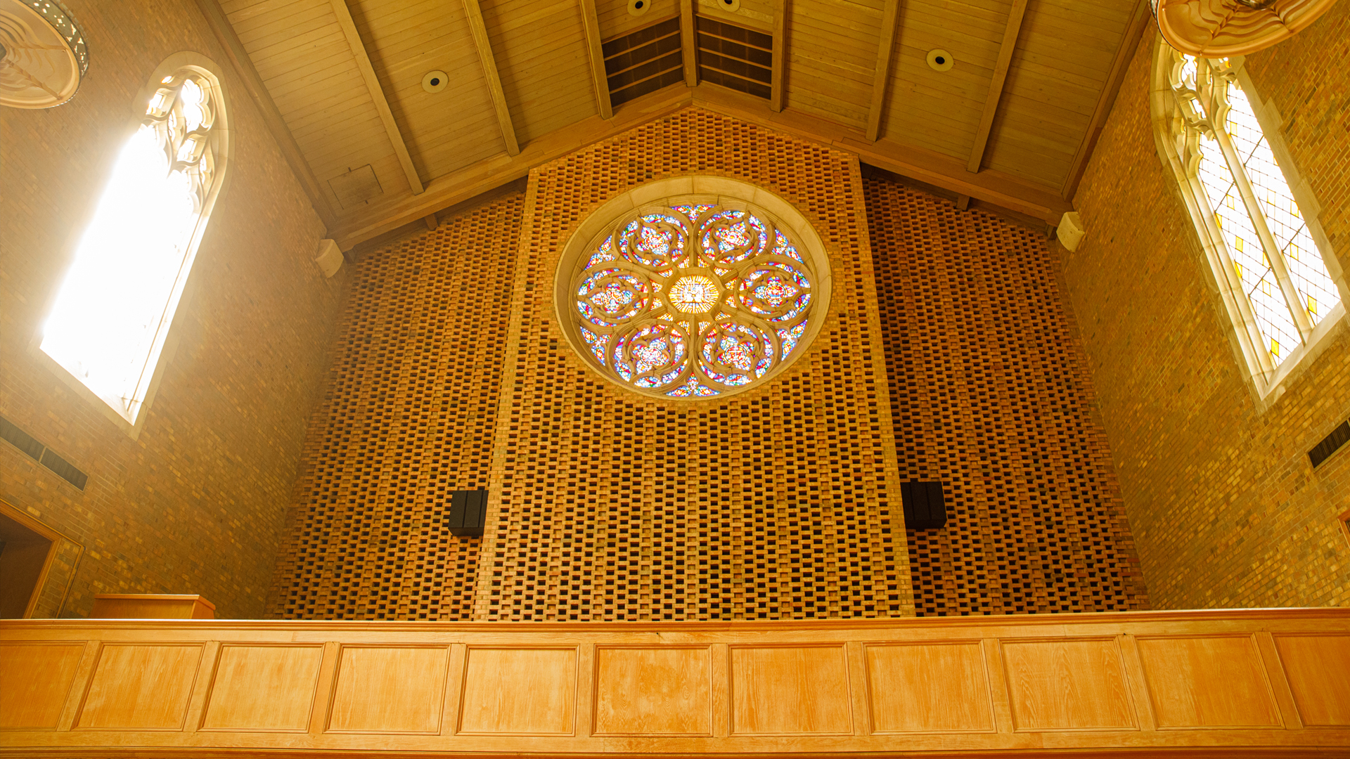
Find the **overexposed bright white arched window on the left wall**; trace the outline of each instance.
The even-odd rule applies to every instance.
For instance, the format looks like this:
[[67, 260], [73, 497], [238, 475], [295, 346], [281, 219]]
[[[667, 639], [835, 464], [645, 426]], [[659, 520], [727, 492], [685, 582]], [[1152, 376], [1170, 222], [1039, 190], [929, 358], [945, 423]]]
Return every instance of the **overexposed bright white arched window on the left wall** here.
[[174, 55], [138, 96], [142, 116], [42, 327], [40, 350], [132, 425], [224, 178], [213, 69]]

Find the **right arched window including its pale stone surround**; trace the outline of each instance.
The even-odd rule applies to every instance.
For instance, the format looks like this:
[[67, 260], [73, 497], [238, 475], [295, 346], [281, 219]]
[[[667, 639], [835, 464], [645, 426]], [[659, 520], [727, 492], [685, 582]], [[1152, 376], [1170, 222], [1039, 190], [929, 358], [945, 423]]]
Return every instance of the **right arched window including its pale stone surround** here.
[[1345, 315], [1345, 284], [1241, 59], [1158, 45], [1158, 147], [1173, 169], [1214, 269], [1247, 369], [1269, 394]]

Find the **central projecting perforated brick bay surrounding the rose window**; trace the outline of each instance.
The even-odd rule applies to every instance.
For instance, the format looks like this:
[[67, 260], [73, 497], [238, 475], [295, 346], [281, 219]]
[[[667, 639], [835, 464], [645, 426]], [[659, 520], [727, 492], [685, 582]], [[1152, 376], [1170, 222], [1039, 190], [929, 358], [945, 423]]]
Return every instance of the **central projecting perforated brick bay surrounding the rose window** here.
[[[776, 380], [679, 405], [624, 392], [574, 355], [552, 286], [587, 213], [693, 173], [795, 204], [832, 253], [836, 290], [809, 352]], [[697, 108], [535, 172], [475, 617], [913, 613], [861, 189], [842, 153]]]

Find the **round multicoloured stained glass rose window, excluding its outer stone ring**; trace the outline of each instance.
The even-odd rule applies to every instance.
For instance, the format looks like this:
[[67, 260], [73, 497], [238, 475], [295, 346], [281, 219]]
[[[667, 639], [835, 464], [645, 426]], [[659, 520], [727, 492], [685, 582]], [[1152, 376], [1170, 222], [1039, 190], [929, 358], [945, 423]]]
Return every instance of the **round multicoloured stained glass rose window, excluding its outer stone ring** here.
[[589, 359], [648, 394], [744, 389], [802, 347], [815, 273], [767, 213], [643, 211], [582, 254], [570, 313]]

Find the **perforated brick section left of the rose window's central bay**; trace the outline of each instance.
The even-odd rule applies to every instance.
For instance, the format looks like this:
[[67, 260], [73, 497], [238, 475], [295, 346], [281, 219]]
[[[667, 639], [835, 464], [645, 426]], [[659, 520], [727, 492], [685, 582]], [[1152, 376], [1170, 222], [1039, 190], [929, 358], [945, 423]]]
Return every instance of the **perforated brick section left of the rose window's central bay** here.
[[356, 265], [271, 616], [468, 616], [481, 539], [450, 533], [448, 493], [487, 485], [524, 200]]

